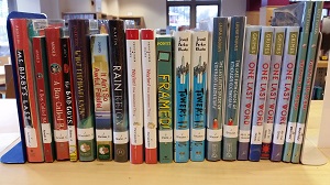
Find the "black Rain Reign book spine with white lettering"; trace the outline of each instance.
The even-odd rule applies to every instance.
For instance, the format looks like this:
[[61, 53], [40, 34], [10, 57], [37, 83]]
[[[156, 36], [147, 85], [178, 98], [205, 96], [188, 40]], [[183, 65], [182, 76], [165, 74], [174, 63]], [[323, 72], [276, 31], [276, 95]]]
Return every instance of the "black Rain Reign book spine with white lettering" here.
[[122, 20], [109, 20], [110, 84], [114, 161], [129, 160], [128, 74]]

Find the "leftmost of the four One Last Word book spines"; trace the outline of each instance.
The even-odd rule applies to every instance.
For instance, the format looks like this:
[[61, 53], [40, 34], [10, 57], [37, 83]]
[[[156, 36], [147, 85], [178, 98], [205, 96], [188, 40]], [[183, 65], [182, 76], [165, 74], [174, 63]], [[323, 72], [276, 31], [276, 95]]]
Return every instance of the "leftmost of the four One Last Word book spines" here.
[[248, 160], [261, 26], [246, 26], [238, 160]]

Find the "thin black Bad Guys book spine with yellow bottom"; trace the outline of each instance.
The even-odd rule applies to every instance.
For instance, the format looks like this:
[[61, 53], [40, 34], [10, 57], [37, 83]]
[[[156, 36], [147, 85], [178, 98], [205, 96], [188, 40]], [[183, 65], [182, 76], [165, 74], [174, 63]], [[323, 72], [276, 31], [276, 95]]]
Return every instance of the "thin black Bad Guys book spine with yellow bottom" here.
[[62, 61], [63, 61], [63, 73], [64, 73], [64, 94], [65, 94], [65, 110], [66, 110], [66, 122], [68, 130], [68, 143], [69, 143], [69, 156], [70, 161], [78, 161], [77, 154], [77, 133], [76, 133], [76, 109], [75, 109], [75, 97], [73, 89], [72, 79], [72, 58], [70, 58], [70, 41], [69, 37], [61, 39]]

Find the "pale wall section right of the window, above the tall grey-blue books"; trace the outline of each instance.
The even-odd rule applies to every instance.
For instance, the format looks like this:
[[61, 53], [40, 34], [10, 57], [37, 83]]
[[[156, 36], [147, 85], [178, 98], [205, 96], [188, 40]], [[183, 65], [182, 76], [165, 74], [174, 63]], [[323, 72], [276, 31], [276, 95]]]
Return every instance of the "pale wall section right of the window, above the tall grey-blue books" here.
[[246, 0], [222, 0], [221, 13], [223, 17], [245, 15]]

